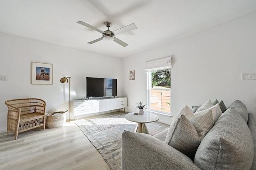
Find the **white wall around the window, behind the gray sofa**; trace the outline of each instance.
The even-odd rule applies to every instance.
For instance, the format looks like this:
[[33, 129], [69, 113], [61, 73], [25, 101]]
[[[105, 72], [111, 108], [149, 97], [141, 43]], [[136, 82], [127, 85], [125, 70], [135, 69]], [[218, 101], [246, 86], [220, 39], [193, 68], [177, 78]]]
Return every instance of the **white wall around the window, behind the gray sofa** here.
[[[256, 13], [188, 35], [123, 59], [123, 95], [128, 111], [146, 102], [144, 63], [174, 55], [171, 71], [171, 113], [206, 100], [223, 100], [228, 107], [242, 101], [256, 117], [256, 80], [241, 80], [241, 73], [256, 72]], [[129, 80], [129, 71], [136, 71]], [[161, 118], [160, 118], [161, 119]], [[171, 119], [162, 118], [162, 121]]]

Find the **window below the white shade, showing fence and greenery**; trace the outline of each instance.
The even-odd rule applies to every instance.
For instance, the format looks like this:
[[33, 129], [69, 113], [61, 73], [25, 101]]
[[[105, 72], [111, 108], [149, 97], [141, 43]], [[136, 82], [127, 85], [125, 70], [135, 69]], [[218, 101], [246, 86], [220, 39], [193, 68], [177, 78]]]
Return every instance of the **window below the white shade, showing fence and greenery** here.
[[148, 110], [171, 113], [171, 69], [148, 71]]

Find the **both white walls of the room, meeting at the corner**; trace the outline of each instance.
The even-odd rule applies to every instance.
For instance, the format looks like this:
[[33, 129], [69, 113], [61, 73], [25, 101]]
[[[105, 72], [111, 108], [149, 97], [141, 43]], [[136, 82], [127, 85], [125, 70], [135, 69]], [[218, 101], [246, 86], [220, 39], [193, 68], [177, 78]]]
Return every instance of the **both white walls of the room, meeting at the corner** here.
[[[7, 107], [4, 101], [16, 98], [42, 98], [47, 112], [68, 109], [68, 84], [71, 100], [86, 96], [85, 78], [118, 78], [118, 96], [128, 97], [128, 111], [146, 102], [146, 61], [174, 55], [171, 111], [201, 105], [206, 100], [244, 102], [256, 117], [256, 80], [241, 80], [241, 73], [256, 72], [256, 13], [177, 39], [124, 59], [97, 55], [60, 45], [0, 33], [0, 132], [6, 131]], [[31, 63], [53, 64], [53, 85], [31, 84]], [[129, 71], [135, 70], [135, 80]], [[160, 117], [170, 123], [169, 117]]]

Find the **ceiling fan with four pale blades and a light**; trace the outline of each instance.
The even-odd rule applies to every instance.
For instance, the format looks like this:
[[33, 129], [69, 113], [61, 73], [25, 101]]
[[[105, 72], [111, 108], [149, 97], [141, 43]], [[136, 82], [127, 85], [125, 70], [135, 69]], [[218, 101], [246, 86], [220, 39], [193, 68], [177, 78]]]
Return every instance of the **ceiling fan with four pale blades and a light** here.
[[115, 35], [137, 29], [137, 26], [134, 23], [132, 23], [130, 25], [126, 25], [125, 27], [122, 27], [122, 28], [117, 29], [115, 31], [110, 31], [109, 30], [109, 27], [112, 25], [112, 23], [108, 22], [108, 21], [106, 21], [104, 23], [106, 25], [106, 27], [108, 27], [108, 30], [106, 30], [106, 31], [101, 31], [100, 29], [98, 29], [98, 28], [96, 28], [92, 25], [89, 25], [88, 23], [85, 23], [83, 21], [77, 21], [76, 23], [79, 23], [79, 24], [84, 25], [88, 28], [94, 29], [95, 31], [98, 31], [99, 33], [102, 33], [102, 37], [100, 37], [98, 39], [95, 39], [94, 41], [90, 41], [90, 42], [88, 42], [88, 44], [93, 44], [93, 43], [96, 43], [96, 42], [104, 39], [105, 41], [108, 41], [108, 42], [115, 41], [116, 43], [122, 45], [123, 47], [126, 47], [128, 44], [125, 43], [124, 41], [121, 41], [120, 39], [116, 38]]

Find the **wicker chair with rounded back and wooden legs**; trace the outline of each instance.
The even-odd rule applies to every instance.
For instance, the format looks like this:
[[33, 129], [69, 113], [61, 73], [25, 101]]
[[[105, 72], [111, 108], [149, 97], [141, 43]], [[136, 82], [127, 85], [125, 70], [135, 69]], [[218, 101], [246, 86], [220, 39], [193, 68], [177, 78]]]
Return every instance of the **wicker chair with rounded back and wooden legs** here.
[[18, 133], [28, 131], [40, 126], [45, 129], [45, 108], [46, 102], [41, 99], [14, 99], [4, 102], [8, 107], [7, 115], [7, 135], [9, 131]]

